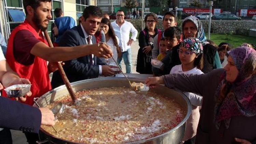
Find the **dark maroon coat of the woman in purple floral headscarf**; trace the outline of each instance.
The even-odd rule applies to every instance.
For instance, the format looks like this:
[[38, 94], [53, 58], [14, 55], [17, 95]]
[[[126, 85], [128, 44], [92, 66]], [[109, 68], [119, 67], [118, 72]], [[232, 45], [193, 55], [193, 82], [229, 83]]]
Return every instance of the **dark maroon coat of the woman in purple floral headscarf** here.
[[221, 124], [219, 130], [215, 127], [213, 121], [214, 95], [219, 84], [219, 76], [223, 72], [224, 69], [214, 69], [201, 75], [170, 74], [164, 75], [163, 80], [169, 88], [176, 87], [182, 91], [199, 93], [203, 97], [196, 144], [231, 144], [236, 143], [234, 138], [255, 143], [256, 116], [234, 116], [231, 118], [228, 129], [224, 124]]

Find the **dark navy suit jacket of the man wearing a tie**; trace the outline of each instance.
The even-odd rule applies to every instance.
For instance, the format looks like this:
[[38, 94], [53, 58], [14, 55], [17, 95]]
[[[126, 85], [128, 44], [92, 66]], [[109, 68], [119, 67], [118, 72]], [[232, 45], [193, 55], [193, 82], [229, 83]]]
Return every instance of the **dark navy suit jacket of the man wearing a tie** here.
[[[96, 43], [96, 39], [93, 36], [93, 43]], [[85, 35], [81, 28], [81, 25], [75, 26], [72, 29], [67, 30], [61, 37], [59, 46], [79, 46], [87, 44]], [[89, 65], [89, 55], [79, 57], [76, 59], [64, 61], [65, 65], [63, 69], [70, 82], [81, 81], [88, 78], [95, 78], [99, 76], [99, 66], [105, 65], [99, 58], [94, 56], [94, 65]], [[97, 64], [97, 65], [96, 65]], [[64, 85], [61, 76], [58, 71], [53, 73], [52, 88]]]

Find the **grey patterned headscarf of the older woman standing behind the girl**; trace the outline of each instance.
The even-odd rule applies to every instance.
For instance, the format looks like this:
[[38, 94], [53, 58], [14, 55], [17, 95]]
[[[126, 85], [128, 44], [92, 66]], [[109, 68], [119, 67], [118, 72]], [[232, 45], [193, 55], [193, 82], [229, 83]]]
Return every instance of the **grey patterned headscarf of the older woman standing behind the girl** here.
[[[203, 45], [208, 44], [207, 39], [206, 39], [206, 37], [204, 35], [203, 25], [202, 25], [202, 23], [199, 21], [199, 19], [197, 17], [195, 17], [195, 16], [186, 17], [184, 19], [183, 23], [182, 23], [182, 29], [184, 27], [184, 24], [188, 20], [192, 21], [196, 25], [196, 27], [197, 27], [197, 37], [196, 38], [198, 38], [203, 43]], [[183, 32], [183, 30], [182, 30], [182, 32]], [[183, 38], [185, 38], [184, 34], [183, 34]]]

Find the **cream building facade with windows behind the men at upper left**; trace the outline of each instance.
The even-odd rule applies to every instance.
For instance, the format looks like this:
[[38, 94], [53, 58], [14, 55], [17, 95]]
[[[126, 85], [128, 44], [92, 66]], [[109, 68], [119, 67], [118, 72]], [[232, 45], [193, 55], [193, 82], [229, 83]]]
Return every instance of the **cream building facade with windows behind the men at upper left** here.
[[[12, 30], [26, 18], [22, 2], [23, 0], [0, 0], [0, 31], [6, 42]], [[71, 16], [78, 21], [88, 5], [96, 5], [96, 0], [52, 0], [53, 18], [48, 24], [48, 33], [51, 33], [51, 24], [54, 23], [54, 9], [61, 8], [64, 16]]]

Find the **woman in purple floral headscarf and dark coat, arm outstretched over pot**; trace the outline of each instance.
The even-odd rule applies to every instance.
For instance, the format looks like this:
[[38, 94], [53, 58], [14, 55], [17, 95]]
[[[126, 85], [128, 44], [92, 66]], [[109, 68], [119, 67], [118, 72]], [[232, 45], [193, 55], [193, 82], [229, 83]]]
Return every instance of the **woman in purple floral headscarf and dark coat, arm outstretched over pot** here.
[[162, 83], [203, 97], [197, 144], [256, 142], [256, 51], [253, 48], [232, 49], [224, 69], [201, 75], [149, 77], [145, 83], [151, 87]]

